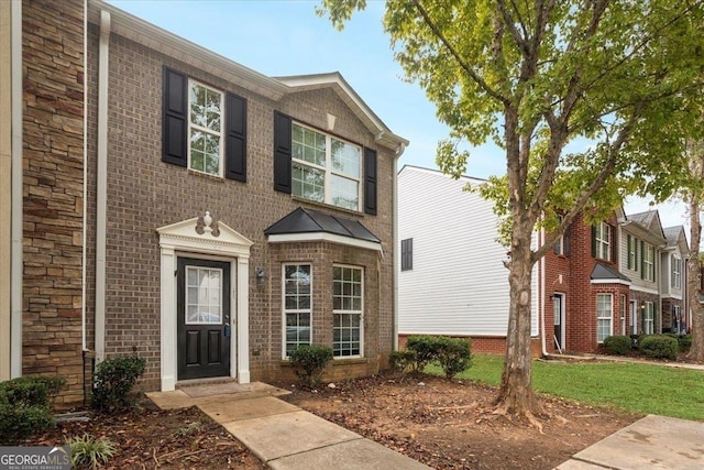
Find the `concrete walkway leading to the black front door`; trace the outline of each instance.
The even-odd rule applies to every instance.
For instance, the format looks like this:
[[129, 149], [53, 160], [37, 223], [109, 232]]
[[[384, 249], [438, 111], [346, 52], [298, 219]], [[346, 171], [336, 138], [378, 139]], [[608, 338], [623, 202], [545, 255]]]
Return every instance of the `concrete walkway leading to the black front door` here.
[[287, 393], [263, 383], [227, 382], [147, 396], [163, 409], [200, 407], [272, 469], [430, 469], [277, 398]]

